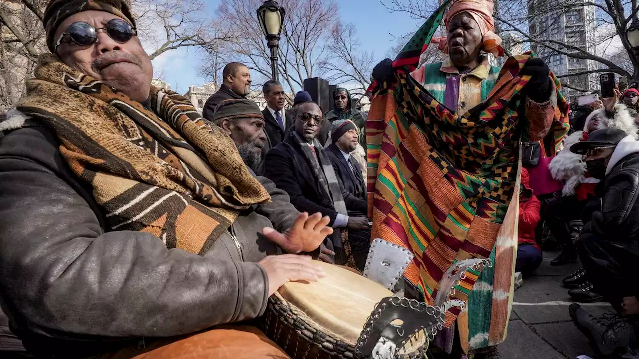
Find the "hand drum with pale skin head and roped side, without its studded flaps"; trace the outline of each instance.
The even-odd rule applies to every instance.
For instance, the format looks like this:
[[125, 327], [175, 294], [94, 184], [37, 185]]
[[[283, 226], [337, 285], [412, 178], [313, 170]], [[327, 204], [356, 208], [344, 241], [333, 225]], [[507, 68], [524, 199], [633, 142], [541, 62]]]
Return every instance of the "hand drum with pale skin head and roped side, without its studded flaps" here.
[[261, 328], [294, 359], [355, 358], [375, 305], [392, 292], [350, 270], [316, 261], [317, 282], [289, 282], [268, 299]]

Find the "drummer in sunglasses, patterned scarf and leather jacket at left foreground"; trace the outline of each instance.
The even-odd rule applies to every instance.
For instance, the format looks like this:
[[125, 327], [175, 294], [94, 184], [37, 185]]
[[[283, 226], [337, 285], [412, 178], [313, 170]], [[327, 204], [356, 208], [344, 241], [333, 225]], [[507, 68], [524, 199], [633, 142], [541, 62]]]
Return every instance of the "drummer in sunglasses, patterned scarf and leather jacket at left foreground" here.
[[321, 277], [330, 218], [298, 213], [224, 130], [151, 86], [125, 1], [53, 0], [43, 20], [53, 54], [0, 122], [12, 330], [38, 358], [286, 357], [254, 326], [219, 325]]

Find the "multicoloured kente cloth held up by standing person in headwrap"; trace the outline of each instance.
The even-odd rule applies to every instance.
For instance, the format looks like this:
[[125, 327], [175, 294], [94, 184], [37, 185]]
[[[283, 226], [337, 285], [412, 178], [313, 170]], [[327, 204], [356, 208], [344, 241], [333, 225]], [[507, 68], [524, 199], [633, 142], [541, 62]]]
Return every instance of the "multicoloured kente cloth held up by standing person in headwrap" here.
[[[508, 59], [484, 102], [462, 116], [451, 112], [410, 75], [449, 3], [397, 56], [394, 79], [369, 88], [369, 217], [371, 238], [415, 254], [404, 277], [431, 304], [453, 263], [471, 258], [495, 263], [483, 273], [470, 270], [454, 287], [452, 298], [468, 303], [458, 321], [461, 344], [468, 350], [505, 338], [516, 256], [519, 146], [528, 133], [521, 89], [530, 76], [518, 74], [533, 55]], [[553, 153], [568, 130], [568, 106], [558, 92], [559, 81], [552, 73], [550, 78], [557, 105], [546, 135], [550, 141], [544, 143], [554, 142], [547, 151]], [[482, 285], [471, 295], [476, 282]], [[460, 312], [447, 310], [448, 333], [454, 332], [450, 328]]]

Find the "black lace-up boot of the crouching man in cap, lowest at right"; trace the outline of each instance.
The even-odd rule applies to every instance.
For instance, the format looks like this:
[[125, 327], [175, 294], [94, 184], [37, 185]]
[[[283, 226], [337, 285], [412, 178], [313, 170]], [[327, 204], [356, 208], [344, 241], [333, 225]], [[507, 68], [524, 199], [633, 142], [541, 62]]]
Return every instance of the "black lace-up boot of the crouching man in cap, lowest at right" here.
[[574, 325], [585, 335], [592, 349], [601, 358], [618, 358], [626, 353], [626, 348], [635, 341], [633, 325], [616, 317], [606, 324], [591, 316], [577, 303], [568, 307]]

